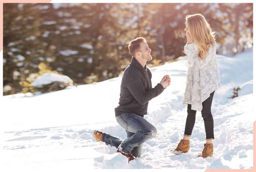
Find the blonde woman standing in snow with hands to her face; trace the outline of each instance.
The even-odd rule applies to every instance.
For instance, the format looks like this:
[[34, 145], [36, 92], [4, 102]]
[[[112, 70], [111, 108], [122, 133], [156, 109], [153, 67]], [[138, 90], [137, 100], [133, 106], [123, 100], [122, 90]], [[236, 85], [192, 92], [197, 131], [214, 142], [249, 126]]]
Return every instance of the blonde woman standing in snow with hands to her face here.
[[184, 51], [188, 55], [188, 74], [183, 104], [188, 105], [188, 116], [184, 137], [177, 148], [171, 152], [175, 154], [188, 152], [196, 111], [201, 111], [206, 131], [206, 143], [199, 156], [205, 158], [213, 154], [214, 125], [211, 104], [214, 91], [221, 86], [215, 35], [202, 14], [187, 15], [185, 25], [187, 44]]

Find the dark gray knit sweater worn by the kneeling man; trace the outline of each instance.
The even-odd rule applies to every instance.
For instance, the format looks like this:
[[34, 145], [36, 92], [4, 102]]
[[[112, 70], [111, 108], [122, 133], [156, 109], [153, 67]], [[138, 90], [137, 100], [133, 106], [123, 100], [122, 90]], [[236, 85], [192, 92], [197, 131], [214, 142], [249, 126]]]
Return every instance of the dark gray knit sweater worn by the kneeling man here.
[[163, 86], [158, 83], [152, 88], [152, 74], [145, 65], [133, 57], [129, 66], [124, 70], [121, 81], [119, 106], [115, 108], [116, 116], [131, 112], [143, 116], [147, 114], [148, 101], [161, 94]]

